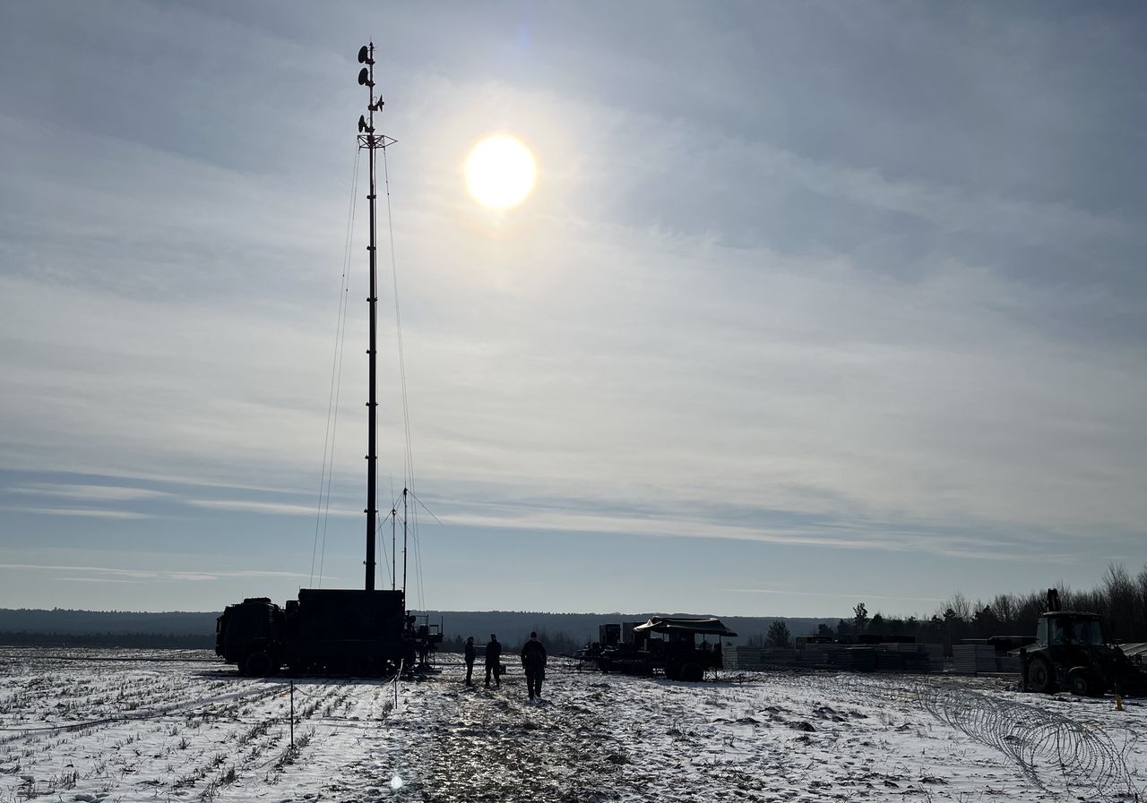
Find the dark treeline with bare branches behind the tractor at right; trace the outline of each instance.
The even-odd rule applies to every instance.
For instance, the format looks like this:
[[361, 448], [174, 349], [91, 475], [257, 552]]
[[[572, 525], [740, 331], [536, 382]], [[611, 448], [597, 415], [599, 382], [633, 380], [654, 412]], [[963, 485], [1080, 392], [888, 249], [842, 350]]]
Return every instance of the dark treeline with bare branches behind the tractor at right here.
[[[1132, 576], [1121, 564], [1107, 567], [1099, 585], [1090, 591], [1075, 591], [1060, 584], [1064, 611], [1097, 613], [1103, 632], [1111, 641], [1147, 641], [1147, 566]], [[869, 615], [864, 603], [852, 608], [851, 619], [841, 619], [836, 627], [818, 625], [810, 636], [850, 639], [858, 636], [913, 636], [916, 641], [944, 644], [949, 652], [962, 639], [992, 636], [1027, 636], [1036, 633], [1036, 623], [1047, 606], [1047, 589], [1028, 593], [1000, 593], [990, 600], [969, 600], [957, 592], [930, 616]], [[773, 644], [770, 630], [762, 641]], [[781, 646], [781, 645], [778, 645]]]

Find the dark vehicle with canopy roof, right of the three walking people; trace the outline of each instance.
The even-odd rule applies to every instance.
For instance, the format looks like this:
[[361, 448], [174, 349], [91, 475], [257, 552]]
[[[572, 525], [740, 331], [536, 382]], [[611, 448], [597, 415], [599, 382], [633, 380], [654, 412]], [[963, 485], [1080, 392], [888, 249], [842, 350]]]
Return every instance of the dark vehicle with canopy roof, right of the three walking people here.
[[[699, 644], [696, 637], [701, 636]], [[716, 636], [709, 641], [709, 636]], [[707, 669], [723, 669], [721, 638], [735, 632], [719, 619], [651, 616], [647, 622], [602, 624], [601, 640], [578, 651], [577, 658], [603, 672], [665, 674], [670, 680], [696, 683]]]

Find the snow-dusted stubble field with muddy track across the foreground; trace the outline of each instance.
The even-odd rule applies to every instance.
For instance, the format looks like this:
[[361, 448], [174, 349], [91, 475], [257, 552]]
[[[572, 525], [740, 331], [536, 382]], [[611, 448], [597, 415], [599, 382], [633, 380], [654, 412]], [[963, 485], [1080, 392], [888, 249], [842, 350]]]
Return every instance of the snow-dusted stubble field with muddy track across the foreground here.
[[[746, 674], [672, 683], [552, 662], [466, 688], [235, 675], [206, 653], [0, 647], [0, 803], [1134, 801], [1147, 707], [999, 679]], [[156, 660], [166, 659], [166, 660]], [[172, 660], [174, 659], [174, 660]], [[397, 704], [396, 704], [397, 698]]]

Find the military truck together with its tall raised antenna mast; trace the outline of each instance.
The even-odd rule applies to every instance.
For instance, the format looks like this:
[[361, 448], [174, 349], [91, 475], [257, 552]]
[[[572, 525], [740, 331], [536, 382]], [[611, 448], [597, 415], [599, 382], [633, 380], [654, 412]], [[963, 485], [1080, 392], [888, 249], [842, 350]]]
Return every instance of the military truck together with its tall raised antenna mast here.
[[[395, 575], [390, 591], [376, 591], [375, 533], [377, 504], [375, 462], [376, 426], [376, 329], [377, 270], [375, 262], [375, 158], [374, 151], [396, 141], [374, 134], [374, 112], [382, 101], [374, 96], [374, 45], [359, 50], [359, 84], [368, 88], [367, 113], [358, 119], [358, 145], [369, 152], [370, 189], [370, 296], [367, 401], [367, 504], [366, 583], [358, 589], [301, 589], [298, 599], [283, 607], [267, 597], [249, 597], [228, 605], [216, 622], [216, 654], [235, 663], [245, 675], [274, 675], [281, 668], [295, 672], [335, 672], [385, 675], [399, 667], [407, 671], [429, 668], [429, 656], [442, 643], [442, 623], [419, 624], [406, 609], [406, 569], [404, 543], [403, 588]], [[403, 490], [405, 502], [406, 489]], [[405, 542], [405, 526], [404, 526]]]

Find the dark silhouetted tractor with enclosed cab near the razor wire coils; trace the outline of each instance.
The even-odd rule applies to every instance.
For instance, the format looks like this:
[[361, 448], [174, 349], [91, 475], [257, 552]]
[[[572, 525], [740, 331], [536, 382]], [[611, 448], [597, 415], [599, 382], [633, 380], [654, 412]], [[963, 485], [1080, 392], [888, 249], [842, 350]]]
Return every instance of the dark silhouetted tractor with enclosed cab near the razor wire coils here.
[[1055, 589], [1047, 591], [1047, 612], [1039, 616], [1035, 646], [1020, 650], [1020, 671], [1024, 691], [1050, 694], [1063, 688], [1079, 696], [1147, 693], [1147, 675], [1105, 641], [1099, 614], [1061, 611]]

